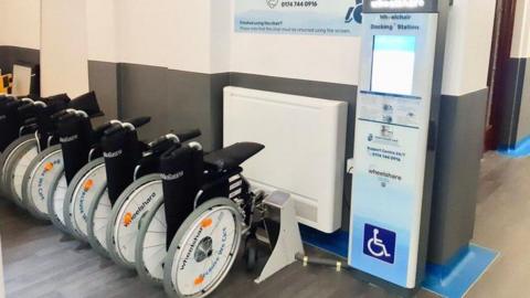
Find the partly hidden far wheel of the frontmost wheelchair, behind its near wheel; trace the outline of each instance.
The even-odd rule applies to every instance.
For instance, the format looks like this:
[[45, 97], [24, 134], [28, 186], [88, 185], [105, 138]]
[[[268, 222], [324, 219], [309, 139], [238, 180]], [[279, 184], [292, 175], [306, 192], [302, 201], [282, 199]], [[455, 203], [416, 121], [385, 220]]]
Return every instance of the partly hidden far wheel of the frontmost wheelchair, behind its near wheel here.
[[163, 196], [161, 196], [155, 202], [152, 210], [140, 220], [140, 232], [136, 241], [136, 270], [140, 279], [146, 283], [153, 285], [163, 283], [163, 260], [168, 254], [167, 231]]

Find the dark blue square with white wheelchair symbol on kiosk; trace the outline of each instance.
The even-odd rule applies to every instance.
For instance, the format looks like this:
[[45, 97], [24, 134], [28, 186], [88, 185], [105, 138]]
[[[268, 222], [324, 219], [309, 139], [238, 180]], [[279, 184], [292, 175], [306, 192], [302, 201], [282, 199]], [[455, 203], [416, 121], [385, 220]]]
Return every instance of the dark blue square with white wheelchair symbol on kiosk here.
[[395, 233], [365, 224], [363, 252], [373, 258], [394, 264]]

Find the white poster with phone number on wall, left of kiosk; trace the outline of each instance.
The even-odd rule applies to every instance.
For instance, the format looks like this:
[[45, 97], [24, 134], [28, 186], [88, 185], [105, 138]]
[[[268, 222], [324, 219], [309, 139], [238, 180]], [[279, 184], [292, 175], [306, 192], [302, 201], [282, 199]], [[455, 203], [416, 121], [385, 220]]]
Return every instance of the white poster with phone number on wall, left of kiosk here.
[[237, 33], [339, 35], [361, 33], [362, 0], [235, 0]]

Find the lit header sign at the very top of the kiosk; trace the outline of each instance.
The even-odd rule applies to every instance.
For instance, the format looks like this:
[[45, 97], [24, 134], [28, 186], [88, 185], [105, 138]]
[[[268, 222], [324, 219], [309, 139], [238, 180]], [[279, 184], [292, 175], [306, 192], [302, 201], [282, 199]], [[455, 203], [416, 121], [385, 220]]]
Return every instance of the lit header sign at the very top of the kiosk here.
[[363, 0], [364, 13], [438, 12], [437, 0]]

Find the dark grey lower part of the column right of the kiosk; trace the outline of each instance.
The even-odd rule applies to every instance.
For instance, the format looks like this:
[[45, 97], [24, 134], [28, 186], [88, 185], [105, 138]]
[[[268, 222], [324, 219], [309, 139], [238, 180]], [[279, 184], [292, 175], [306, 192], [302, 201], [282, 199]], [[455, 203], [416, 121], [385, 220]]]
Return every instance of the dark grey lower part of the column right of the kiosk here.
[[428, 258], [446, 262], [473, 238], [488, 89], [443, 96]]

